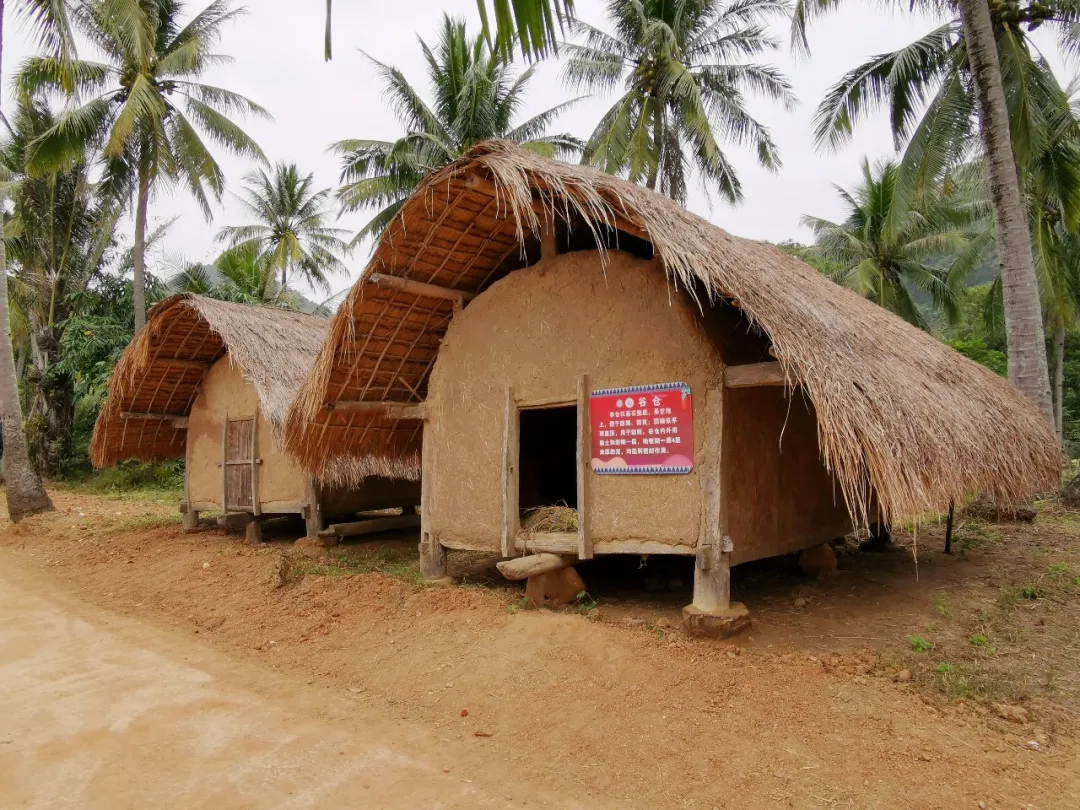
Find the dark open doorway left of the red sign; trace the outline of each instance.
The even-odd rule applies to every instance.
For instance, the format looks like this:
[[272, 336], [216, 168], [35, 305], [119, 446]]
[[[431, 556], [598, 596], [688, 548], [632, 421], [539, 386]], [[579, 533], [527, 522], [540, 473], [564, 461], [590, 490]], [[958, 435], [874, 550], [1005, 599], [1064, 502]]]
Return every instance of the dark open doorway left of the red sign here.
[[578, 508], [578, 408], [521, 411], [517, 504]]

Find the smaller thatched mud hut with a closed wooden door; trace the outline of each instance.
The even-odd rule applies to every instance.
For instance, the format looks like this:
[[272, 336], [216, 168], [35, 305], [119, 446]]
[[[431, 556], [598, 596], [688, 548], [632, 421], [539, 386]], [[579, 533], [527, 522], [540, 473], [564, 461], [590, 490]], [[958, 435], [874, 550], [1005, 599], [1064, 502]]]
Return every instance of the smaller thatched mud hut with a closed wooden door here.
[[415, 464], [355, 458], [316, 477], [282, 448], [287, 408], [328, 323], [189, 294], [162, 301], [109, 381], [93, 463], [185, 459], [188, 525], [205, 511], [301, 514], [313, 535], [361, 510], [418, 503]]

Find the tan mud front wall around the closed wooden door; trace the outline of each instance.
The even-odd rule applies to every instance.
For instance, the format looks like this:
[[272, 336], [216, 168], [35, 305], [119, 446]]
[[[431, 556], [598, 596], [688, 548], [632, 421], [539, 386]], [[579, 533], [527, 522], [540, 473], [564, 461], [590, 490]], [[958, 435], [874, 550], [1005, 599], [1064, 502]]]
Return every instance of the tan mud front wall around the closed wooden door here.
[[258, 414], [255, 427], [258, 499], [302, 502], [306, 476], [276, 445], [270, 423], [258, 409], [258, 395], [228, 355], [217, 361], [203, 378], [188, 418], [188, 500], [191, 503], [221, 502], [221, 435], [228, 418]]

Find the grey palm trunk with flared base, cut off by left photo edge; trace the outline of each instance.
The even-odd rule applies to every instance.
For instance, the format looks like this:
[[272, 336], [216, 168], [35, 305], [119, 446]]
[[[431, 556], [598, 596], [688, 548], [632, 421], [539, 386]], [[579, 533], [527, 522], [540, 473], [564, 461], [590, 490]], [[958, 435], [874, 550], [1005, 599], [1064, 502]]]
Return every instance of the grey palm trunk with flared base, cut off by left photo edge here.
[[[0, 0], [0, 65], [3, 64], [3, 12]], [[2, 98], [2, 95], [0, 95]], [[30, 467], [23, 433], [23, 408], [18, 402], [18, 378], [15, 376], [15, 353], [11, 348], [11, 315], [8, 311], [8, 255], [3, 235], [3, 195], [0, 194], [0, 321], [3, 337], [0, 339], [0, 418], [3, 419], [3, 470], [8, 489], [8, 516], [18, 523], [27, 515], [48, 512], [53, 508], [41, 478]]]

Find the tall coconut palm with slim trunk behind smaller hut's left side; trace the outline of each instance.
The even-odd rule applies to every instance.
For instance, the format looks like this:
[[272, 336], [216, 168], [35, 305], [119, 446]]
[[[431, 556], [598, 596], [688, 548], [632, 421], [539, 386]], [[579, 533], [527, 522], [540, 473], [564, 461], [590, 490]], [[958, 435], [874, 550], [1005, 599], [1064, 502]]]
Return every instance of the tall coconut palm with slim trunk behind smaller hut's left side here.
[[269, 118], [254, 102], [199, 81], [229, 57], [214, 52], [225, 25], [242, 13], [215, 0], [187, 24], [183, 0], [83, 0], [73, 26], [106, 58], [60, 65], [27, 59], [19, 87], [69, 95], [66, 111], [37, 143], [30, 168], [48, 173], [87, 148], [103, 154], [103, 188], [135, 198], [134, 292], [136, 330], [146, 322], [144, 275], [150, 198], [162, 183], [187, 188], [211, 218], [225, 177], [204, 137], [238, 156], [265, 161], [258, 145], [229, 116]]

